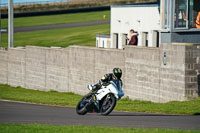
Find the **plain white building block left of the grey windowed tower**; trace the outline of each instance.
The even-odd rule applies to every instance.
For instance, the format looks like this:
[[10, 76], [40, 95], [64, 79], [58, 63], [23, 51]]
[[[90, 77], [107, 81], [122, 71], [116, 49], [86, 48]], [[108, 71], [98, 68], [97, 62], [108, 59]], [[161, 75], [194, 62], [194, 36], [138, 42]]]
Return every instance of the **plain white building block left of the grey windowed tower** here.
[[122, 5], [111, 7], [111, 47], [122, 49], [126, 36], [138, 32], [138, 46], [156, 47], [160, 14], [158, 4]]

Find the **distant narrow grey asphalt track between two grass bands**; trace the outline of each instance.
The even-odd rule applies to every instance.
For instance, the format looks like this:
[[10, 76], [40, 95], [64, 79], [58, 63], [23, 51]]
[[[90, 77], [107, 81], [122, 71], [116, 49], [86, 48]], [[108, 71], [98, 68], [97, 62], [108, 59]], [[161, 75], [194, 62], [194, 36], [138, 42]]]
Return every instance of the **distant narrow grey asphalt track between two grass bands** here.
[[[15, 27], [14, 32], [31, 32], [39, 30], [53, 30], [62, 28], [73, 28], [73, 27], [83, 27], [83, 26], [95, 26], [102, 24], [110, 24], [110, 20], [93, 21], [93, 22], [78, 22], [78, 23], [67, 23], [67, 24], [53, 24], [53, 25], [39, 25], [39, 26], [29, 26], [29, 27]], [[4, 33], [7, 33], [4, 32]]]

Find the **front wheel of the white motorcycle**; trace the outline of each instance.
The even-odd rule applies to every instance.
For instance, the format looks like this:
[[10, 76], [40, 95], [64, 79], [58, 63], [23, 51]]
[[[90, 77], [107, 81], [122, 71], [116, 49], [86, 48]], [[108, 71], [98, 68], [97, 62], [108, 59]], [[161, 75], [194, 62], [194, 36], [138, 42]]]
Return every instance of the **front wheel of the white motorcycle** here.
[[108, 115], [112, 112], [116, 105], [116, 98], [113, 94], [108, 94], [103, 100], [101, 106], [101, 115]]

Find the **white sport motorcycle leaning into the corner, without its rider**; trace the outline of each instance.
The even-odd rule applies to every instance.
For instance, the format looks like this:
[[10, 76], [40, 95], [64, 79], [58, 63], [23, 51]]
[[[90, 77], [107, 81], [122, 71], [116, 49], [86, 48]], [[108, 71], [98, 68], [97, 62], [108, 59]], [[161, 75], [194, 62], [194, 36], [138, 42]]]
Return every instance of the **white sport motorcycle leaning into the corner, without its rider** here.
[[109, 85], [102, 85], [99, 90], [94, 92], [92, 91], [92, 87], [93, 85], [90, 84], [88, 87], [90, 92], [77, 104], [77, 114], [85, 115], [95, 112], [101, 113], [101, 115], [108, 115], [115, 108], [116, 102], [124, 96], [120, 80], [112, 80]]

